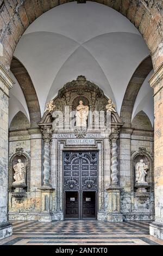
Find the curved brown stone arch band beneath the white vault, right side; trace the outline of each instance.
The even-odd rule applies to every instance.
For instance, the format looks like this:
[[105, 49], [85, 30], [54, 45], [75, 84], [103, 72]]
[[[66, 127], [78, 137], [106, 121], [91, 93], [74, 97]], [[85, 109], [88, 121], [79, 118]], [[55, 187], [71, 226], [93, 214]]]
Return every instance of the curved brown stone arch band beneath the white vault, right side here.
[[134, 103], [140, 87], [145, 81], [147, 75], [153, 69], [151, 56], [145, 58], [135, 70], [127, 86], [124, 94], [122, 107], [121, 107], [121, 119], [124, 122], [124, 127], [131, 126], [131, 116], [133, 113]]

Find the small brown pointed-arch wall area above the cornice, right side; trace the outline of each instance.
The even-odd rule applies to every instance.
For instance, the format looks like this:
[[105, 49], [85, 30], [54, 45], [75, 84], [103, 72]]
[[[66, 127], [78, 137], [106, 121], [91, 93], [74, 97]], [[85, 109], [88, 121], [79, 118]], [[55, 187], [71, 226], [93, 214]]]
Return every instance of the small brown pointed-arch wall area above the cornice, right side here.
[[131, 128], [140, 130], [153, 130], [151, 121], [144, 111], [140, 111], [134, 117]]

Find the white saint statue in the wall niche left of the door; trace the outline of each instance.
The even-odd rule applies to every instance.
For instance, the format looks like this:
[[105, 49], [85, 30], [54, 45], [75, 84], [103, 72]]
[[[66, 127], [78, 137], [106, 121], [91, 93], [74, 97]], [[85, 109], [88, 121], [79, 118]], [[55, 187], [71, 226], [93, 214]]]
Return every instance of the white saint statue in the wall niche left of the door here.
[[25, 166], [22, 163], [21, 159], [18, 159], [17, 161], [18, 161], [18, 163], [14, 164], [14, 171], [15, 171], [14, 180], [15, 181], [13, 182], [13, 184], [14, 183], [26, 183], [25, 177], [24, 177], [24, 173], [26, 172]]

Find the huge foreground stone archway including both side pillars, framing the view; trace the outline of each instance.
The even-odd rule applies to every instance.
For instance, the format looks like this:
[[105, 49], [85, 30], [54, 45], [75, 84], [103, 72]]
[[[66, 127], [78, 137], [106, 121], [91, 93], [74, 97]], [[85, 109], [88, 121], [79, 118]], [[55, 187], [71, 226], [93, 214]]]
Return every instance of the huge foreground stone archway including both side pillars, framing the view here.
[[[59, 4], [62, 4], [59, 1]], [[65, 2], [64, 2], [65, 3]], [[155, 73], [152, 76], [150, 83], [154, 88], [154, 110], [155, 110], [155, 223], [151, 226], [151, 234], [162, 237], [162, 20], [161, 11], [159, 8], [160, 3], [147, 3], [145, 1], [100, 1], [125, 15], [134, 25], [139, 29], [140, 33], [146, 41], [148, 49], [151, 52], [152, 62]], [[4, 232], [8, 229], [7, 222], [7, 176], [8, 176], [8, 92], [12, 86], [12, 79], [7, 72], [10, 67], [12, 55], [23, 32], [32, 23], [36, 17], [40, 16], [43, 12], [58, 5], [58, 1], [43, 1], [33, 2], [31, 8], [31, 1], [24, 1], [18, 5], [3, 4], [2, 11], [6, 10], [7, 15], [2, 15], [2, 34], [1, 42], [3, 45], [3, 56], [1, 56], [1, 105], [2, 105], [2, 123], [1, 123], [1, 138], [3, 138], [2, 155], [2, 187], [3, 187], [3, 200], [1, 200], [1, 222], [2, 230]], [[158, 231], [159, 230], [159, 231]]]

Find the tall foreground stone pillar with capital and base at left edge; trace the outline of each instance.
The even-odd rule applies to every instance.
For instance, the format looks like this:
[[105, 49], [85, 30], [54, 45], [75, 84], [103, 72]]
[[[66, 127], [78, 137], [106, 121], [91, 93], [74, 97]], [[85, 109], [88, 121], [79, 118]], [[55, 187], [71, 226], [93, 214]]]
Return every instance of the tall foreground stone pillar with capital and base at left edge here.
[[8, 110], [9, 90], [14, 81], [0, 63], [0, 239], [12, 235], [7, 221], [8, 205]]

